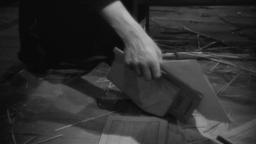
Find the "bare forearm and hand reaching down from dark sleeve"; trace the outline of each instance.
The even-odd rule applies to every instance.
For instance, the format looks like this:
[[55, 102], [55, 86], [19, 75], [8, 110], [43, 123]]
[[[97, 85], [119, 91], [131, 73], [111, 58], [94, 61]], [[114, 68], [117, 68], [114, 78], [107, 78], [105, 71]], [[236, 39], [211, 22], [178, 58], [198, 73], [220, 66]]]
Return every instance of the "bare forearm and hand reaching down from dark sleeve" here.
[[100, 15], [123, 40], [125, 63], [137, 76], [143, 76], [146, 80], [161, 77], [161, 50], [127, 12], [124, 5], [120, 1], [115, 1], [102, 8]]

